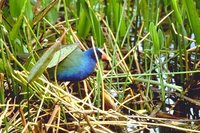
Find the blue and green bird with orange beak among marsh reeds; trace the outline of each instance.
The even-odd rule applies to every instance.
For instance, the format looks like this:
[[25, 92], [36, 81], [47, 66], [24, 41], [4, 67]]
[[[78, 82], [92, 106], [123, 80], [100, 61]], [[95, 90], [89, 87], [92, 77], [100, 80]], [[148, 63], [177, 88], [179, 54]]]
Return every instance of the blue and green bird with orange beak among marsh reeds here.
[[56, 75], [56, 80], [60, 82], [82, 81], [94, 72], [97, 58], [102, 61], [110, 60], [110, 57], [100, 48], [89, 48], [82, 51], [78, 47], [67, 57], [64, 57], [57, 66], [49, 68], [48, 73], [50, 73], [50, 78], [54, 80]]

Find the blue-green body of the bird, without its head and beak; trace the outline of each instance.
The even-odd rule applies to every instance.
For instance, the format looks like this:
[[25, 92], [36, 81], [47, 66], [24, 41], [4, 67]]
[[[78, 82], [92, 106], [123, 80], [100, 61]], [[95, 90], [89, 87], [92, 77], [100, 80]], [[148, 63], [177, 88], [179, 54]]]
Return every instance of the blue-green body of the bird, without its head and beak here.
[[58, 65], [57, 80], [80, 81], [89, 76], [96, 67], [96, 59], [91, 58], [90, 53], [89, 51], [71, 53], [67, 60]]

